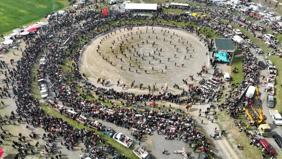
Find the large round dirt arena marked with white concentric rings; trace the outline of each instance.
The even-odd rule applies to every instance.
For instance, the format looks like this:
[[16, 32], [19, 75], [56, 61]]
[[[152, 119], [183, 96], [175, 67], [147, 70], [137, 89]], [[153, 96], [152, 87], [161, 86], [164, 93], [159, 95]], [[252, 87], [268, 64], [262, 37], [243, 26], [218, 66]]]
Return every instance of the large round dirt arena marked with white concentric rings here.
[[[106, 38], [107, 37], [107, 38]], [[170, 92], [188, 89], [187, 83], [198, 84], [202, 78], [210, 78], [212, 70], [198, 76], [204, 63], [209, 65], [205, 44], [199, 38], [187, 32], [161, 27], [134, 27], [116, 30], [95, 39], [82, 53], [81, 72], [92, 83], [102, 86], [97, 79], [105, 78], [110, 83], [104, 87], [124, 91], [145, 93], [161, 91], [161, 85], [167, 84]], [[130, 69], [130, 70], [129, 70]], [[191, 81], [189, 75], [193, 75]], [[101, 81], [102, 81], [101, 79]], [[117, 81], [120, 85], [117, 87]], [[135, 82], [134, 82], [135, 81]], [[131, 83], [134, 86], [131, 88]], [[140, 90], [139, 84], [143, 84]], [[178, 89], [173, 89], [174, 83]]]

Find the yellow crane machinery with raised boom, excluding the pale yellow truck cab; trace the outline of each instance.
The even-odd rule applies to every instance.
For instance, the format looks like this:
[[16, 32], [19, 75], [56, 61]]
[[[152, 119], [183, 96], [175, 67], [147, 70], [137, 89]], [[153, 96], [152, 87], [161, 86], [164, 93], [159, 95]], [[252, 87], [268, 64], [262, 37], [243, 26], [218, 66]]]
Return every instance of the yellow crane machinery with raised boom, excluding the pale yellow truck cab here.
[[257, 126], [259, 124], [265, 124], [265, 121], [267, 119], [267, 117], [265, 115], [263, 115], [262, 112], [262, 103], [261, 100], [259, 98], [259, 90], [257, 88], [256, 85], [256, 100], [258, 101], [258, 112], [256, 111], [256, 109], [250, 105], [250, 109], [247, 109], [245, 106], [248, 106], [247, 104], [243, 106], [243, 110], [245, 111], [245, 117], [247, 117], [247, 119], [249, 121], [253, 121], [253, 124], [256, 124]]

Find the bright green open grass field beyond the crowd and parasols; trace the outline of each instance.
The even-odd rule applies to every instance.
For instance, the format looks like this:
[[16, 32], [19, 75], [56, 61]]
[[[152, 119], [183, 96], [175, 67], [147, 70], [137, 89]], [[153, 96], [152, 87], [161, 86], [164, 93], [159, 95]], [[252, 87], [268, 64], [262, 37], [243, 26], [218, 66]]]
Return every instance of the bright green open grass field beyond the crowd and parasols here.
[[68, 6], [67, 0], [9, 0], [0, 3], [0, 34], [29, 25], [44, 17], [46, 13]]

